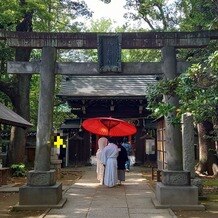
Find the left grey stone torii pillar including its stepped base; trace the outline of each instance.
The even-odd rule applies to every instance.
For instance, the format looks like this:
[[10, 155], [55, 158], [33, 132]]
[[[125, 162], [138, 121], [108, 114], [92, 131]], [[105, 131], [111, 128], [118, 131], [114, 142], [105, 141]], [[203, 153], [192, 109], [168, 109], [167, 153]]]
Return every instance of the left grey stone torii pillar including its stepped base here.
[[17, 208], [57, 208], [66, 202], [62, 199], [62, 184], [56, 183], [55, 170], [50, 169], [55, 63], [56, 48], [43, 47], [35, 165], [34, 170], [28, 172], [27, 185], [19, 189]]

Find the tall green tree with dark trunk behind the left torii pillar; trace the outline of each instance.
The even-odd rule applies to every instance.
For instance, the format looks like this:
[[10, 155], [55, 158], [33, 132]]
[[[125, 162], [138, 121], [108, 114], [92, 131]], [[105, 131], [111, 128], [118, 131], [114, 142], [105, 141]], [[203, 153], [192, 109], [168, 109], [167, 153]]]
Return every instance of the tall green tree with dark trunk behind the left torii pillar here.
[[[37, 31], [75, 31], [71, 18], [74, 19], [78, 13], [91, 15], [84, 1], [26, 1], [26, 0], [5, 0], [0, 3], [0, 28], [3, 30], [16, 30], [22, 32]], [[61, 13], [64, 11], [65, 13]], [[13, 15], [13, 16], [12, 16]], [[67, 17], [70, 15], [70, 17]], [[61, 29], [62, 28], [62, 29]], [[6, 46], [2, 46], [6, 49]], [[8, 49], [8, 54], [10, 49]], [[31, 48], [15, 49], [14, 57], [16, 61], [29, 61]], [[12, 52], [12, 53], [13, 53]], [[11, 57], [11, 55], [9, 55]], [[8, 59], [2, 58], [1, 63]], [[30, 81], [31, 75], [10, 76], [10, 81], [6, 75], [6, 69], [1, 68], [0, 91], [12, 102], [14, 110], [24, 117], [30, 119]], [[25, 107], [23, 107], [25, 105]], [[9, 157], [11, 163], [18, 163], [24, 160], [26, 130], [19, 127], [12, 127]]]

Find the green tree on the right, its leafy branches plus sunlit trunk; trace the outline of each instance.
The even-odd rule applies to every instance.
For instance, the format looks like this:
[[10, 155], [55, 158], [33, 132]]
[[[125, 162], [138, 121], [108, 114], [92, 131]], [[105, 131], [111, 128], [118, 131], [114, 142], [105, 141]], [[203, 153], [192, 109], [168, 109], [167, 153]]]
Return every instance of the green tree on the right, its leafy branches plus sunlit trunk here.
[[[175, 111], [172, 120], [178, 123], [181, 114], [193, 115], [199, 137], [197, 172], [216, 176], [218, 173], [215, 144], [217, 144], [218, 117], [218, 52], [202, 64], [194, 64], [174, 80], [160, 81], [148, 89], [148, 107], [156, 117]], [[177, 95], [179, 106], [166, 104], [162, 95]]]

